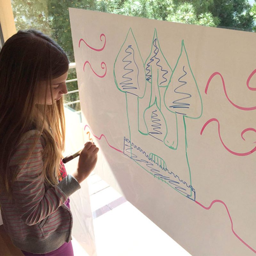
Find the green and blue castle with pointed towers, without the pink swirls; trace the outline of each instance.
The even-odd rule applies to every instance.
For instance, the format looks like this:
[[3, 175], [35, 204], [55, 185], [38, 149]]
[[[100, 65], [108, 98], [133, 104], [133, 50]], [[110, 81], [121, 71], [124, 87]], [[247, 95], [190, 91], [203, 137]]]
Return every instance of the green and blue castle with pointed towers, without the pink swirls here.
[[[129, 136], [124, 137], [124, 154], [180, 194], [195, 200], [187, 154], [186, 118], [200, 118], [203, 106], [184, 41], [181, 42], [180, 56], [172, 70], [161, 50], [156, 29], [150, 53], [143, 62], [130, 28], [114, 63], [114, 79], [117, 89], [124, 92], [126, 98]], [[186, 145], [186, 177], [182, 177], [179, 170], [172, 171], [171, 166], [167, 167], [164, 159], [156, 152], [146, 153], [132, 139], [129, 120], [134, 113], [129, 112], [129, 104], [137, 106], [135, 116], [137, 115], [137, 128], [141, 136], [149, 135], [161, 141], [170, 154], [179, 147], [178, 119], [182, 119], [185, 130], [183, 140]]]

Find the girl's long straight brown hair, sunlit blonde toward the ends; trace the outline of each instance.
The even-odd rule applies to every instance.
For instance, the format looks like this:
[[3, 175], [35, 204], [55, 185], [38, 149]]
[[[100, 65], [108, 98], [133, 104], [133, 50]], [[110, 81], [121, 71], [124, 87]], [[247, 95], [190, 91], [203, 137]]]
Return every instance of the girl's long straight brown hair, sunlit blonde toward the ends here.
[[[68, 71], [68, 57], [50, 37], [36, 30], [20, 30], [0, 51], [0, 190], [11, 192], [18, 173], [9, 168], [21, 136], [37, 130], [32, 154], [38, 140], [44, 140], [43, 173], [45, 185], [57, 184], [57, 172], [65, 143], [62, 99], [46, 105], [52, 79]], [[36, 86], [44, 82], [45, 102], [35, 104]], [[24, 161], [23, 161], [24, 162]], [[25, 162], [26, 163], [26, 162]]]

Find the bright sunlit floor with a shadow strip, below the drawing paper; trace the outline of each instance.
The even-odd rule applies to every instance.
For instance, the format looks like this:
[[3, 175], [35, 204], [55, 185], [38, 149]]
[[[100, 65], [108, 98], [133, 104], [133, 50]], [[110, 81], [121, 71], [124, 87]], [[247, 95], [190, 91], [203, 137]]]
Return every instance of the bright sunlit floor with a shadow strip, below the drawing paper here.
[[100, 177], [88, 177], [98, 256], [189, 256]]

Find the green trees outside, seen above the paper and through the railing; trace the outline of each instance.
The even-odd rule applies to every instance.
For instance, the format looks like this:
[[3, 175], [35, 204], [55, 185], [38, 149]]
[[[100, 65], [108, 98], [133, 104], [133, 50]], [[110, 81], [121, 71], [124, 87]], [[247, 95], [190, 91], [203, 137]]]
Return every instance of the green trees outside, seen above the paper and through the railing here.
[[[74, 62], [68, 7], [210, 27], [256, 31], [256, 3], [248, 0], [12, 0], [16, 28], [51, 36]], [[70, 71], [68, 79], [76, 77]], [[68, 84], [76, 90], [77, 83]], [[68, 100], [77, 99], [76, 93]]]

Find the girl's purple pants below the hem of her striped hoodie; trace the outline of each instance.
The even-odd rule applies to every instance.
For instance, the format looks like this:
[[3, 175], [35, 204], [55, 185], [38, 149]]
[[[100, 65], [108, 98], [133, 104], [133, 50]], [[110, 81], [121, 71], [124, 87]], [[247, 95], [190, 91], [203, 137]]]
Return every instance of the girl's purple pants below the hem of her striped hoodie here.
[[[65, 204], [69, 207], [69, 198], [68, 200], [65, 202]], [[25, 255], [25, 256], [74, 256], [74, 252], [73, 252], [73, 247], [72, 247], [72, 243], [71, 241], [69, 243], [64, 243], [62, 244], [58, 249], [52, 251], [52, 252], [47, 252], [47, 253], [32, 253], [32, 252], [25, 252], [22, 251], [21, 252]]]

